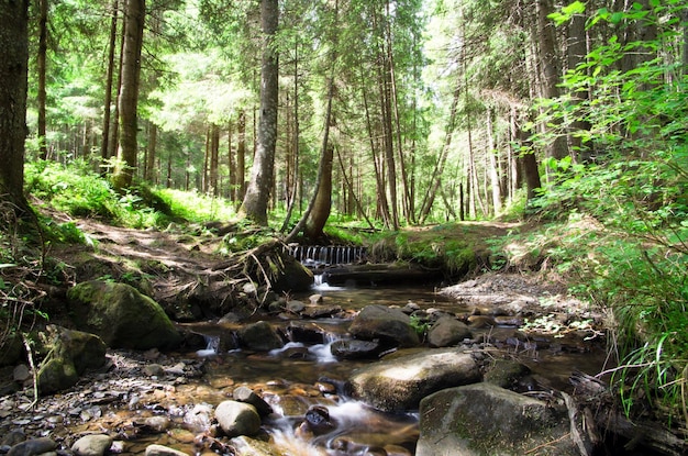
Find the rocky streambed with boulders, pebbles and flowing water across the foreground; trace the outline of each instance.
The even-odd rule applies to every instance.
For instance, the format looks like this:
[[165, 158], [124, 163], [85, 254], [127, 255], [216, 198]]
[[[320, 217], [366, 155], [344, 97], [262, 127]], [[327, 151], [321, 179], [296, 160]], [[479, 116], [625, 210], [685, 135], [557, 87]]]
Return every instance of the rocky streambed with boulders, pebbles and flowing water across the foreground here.
[[[27, 367], [10, 366], [4, 386], [20, 388], [0, 398], [0, 452], [580, 454], [595, 445], [574, 435], [581, 423], [567, 402], [572, 370], [595, 375], [603, 359], [602, 315], [586, 303], [500, 275], [444, 289], [442, 302], [354, 303], [337, 291], [204, 323], [215, 333], [182, 327], [187, 342], [211, 349], [108, 349], [103, 366], [37, 402]], [[561, 369], [551, 367], [557, 359]]]

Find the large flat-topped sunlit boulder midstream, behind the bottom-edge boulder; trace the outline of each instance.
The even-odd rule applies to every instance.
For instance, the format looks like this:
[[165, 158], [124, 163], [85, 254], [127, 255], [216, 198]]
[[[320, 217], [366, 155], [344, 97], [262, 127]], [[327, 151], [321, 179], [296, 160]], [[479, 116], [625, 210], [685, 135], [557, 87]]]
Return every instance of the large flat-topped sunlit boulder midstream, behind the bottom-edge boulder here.
[[430, 349], [356, 370], [348, 386], [356, 399], [386, 412], [417, 410], [425, 396], [480, 381], [473, 356], [455, 348]]

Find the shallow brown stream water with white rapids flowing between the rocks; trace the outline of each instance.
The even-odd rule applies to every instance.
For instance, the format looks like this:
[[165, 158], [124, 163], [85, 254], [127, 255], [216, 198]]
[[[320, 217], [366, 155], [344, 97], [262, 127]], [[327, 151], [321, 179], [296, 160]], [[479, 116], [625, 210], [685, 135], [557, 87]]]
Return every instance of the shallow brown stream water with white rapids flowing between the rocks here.
[[[346, 288], [317, 283], [312, 293], [323, 297], [324, 305], [359, 310], [370, 304], [399, 305], [409, 302], [421, 309], [439, 309], [460, 313], [468, 309], [456, 300], [439, 294], [433, 287]], [[293, 299], [308, 301], [308, 294]], [[289, 321], [275, 319], [271, 324], [282, 329]], [[241, 349], [211, 355], [206, 381], [222, 390], [246, 385], [258, 392], [275, 411], [264, 422], [271, 441], [287, 455], [413, 455], [418, 440], [418, 413], [381, 413], [347, 398], [341, 386], [351, 372], [373, 360], [337, 360], [330, 352], [333, 341], [347, 337], [349, 320], [319, 319], [317, 324], [326, 334], [323, 343], [290, 342], [269, 353]], [[212, 333], [212, 327], [199, 329]], [[478, 338], [513, 340], [514, 327], [492, 327], [477, 333]], [[286, 331], [284, 331], [286, 332]], [[508, 345], [508, 343], [507, 343]], [[544, 346], [544, 345], [543, 345]], [[520, 355], [533, 371], [540, 386], [570, 390], [568, 377], [575, 369], [597, 374], [603, 364], [603, 351], [577, 353], [552, 344], [544, 349], [533, 346], [507, 346]], [[519, 353], [520, 352], [520, 353]], [[229, 385], [229, 387], [228, 387]], [[525, 386], [525, 389], [531, 388]], [[331, 425], [314, 435], [303, 422], [313, 407], [329, 411]]]

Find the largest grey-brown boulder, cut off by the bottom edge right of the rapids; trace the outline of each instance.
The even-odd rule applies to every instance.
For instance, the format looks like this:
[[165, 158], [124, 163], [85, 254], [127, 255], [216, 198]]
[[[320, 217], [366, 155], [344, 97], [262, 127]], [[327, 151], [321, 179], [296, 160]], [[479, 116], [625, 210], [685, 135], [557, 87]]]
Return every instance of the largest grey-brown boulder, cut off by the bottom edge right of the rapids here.
[[420, 416], [415, 456], [579, 455], [565, 411], [490, 383], [435, 392]]

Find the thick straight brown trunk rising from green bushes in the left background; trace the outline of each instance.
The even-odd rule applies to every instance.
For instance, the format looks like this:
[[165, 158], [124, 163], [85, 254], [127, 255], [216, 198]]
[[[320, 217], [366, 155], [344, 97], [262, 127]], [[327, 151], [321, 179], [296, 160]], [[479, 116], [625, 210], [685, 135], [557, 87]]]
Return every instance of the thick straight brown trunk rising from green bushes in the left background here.
[[125, 36], [122, 57], [122, 92], [120, 94], [121, 138], [118, 153], [118, 166], [112, 176], [113, 187], [118, 190], [131, 187], [136, 169], [138, 144], [136, 134], [138, 122], [138, 82], [141, 78], [141, 49], [143, 45], [143, 23], [145, 0], [127, 0], [125, 10]]

